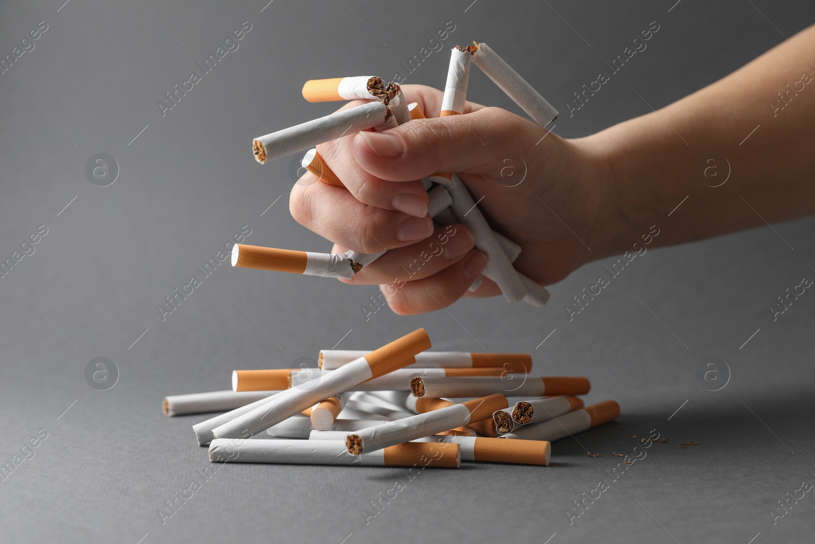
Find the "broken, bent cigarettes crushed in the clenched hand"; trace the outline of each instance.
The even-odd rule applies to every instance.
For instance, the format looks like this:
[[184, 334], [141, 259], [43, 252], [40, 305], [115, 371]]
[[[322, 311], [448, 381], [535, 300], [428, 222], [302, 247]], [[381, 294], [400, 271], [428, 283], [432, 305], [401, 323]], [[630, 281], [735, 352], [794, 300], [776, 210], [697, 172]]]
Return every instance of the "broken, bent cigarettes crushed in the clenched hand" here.
[[[485, 43], [476, 42], [463, 49], [456, 46], [451, 51], [441, 117], [464, 113], [472, 63], [482, 69], [540, 126], [547, 126], [557, 117], [557, 110], [495, 51]], [[302, 94], [310, 102], [370, 101], [253, 139], [254, 157], [263, 164], [290, 153], [308, 150], [302, 158], [302, 166], [322, 182], [336, 187], [344, 185], [314, 146], [361, 130], [385, 130], [413, 119], [425, 118], [416, 103], [407, 104], [398, 84], [385, 84], [380, 77], [310, 80], [303, 86]], [[421, 181], [430, 197], [430, 217], [438, 224], [457, 222], [469, 228], [475, 238], [476, 249], [487, 256], [482, 275], [496, 282], [509, 303], [525, 300], [542, 307], [548, 301], [547, 290], [513, 267], [521, 247], [492, 230], [456, 173], [440, 172]], [[348, 251], [344, 254], [325, 254], [236, 244], [232, 249], [231, 262], [232, 266], [243, 268], [350, 279], [384, 253]], [[482, 277], [478, 276], [469, 290], [477, 290], [481, 281]]]

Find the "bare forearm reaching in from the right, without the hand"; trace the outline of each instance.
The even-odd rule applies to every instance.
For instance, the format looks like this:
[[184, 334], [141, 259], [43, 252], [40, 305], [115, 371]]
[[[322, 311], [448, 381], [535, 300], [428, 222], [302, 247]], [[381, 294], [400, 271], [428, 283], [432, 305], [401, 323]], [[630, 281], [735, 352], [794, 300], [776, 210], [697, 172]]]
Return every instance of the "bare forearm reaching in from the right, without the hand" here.
[[614, 184], [610, 223], [624, 225], [599, 226], [595, 258], [628, 250], [654, 224], [665, 226], [654, 244], [671, 245], [815, 213], [810, 59], [815, 27], [656, 113], [580, 140]]

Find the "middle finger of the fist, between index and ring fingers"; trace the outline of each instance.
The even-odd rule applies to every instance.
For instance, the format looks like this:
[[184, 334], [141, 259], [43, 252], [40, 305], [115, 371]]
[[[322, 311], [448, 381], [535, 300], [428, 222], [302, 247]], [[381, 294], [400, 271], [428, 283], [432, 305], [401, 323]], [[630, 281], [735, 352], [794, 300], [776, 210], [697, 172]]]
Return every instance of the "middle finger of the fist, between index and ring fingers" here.
[[358, 201], [345, 188], [317, 183], [307, 174], [293, 185], [289, 211], [297, 223], [334, 243], [377, 253], [424, 240], [434, 231], [429, 216], [412, 217]]

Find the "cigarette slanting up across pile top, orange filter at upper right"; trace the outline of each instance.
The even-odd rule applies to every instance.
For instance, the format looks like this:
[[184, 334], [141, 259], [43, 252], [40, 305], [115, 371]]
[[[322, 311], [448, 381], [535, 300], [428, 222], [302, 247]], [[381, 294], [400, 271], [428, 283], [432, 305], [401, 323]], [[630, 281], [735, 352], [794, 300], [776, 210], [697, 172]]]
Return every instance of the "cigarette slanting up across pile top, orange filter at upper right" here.
[[[347, 391], [371, 378], [379, 378], [393, 370], [415, 362], [413, 356], [430, 347], [425, 329], [416, 329], [394, 342], [359, 357], [341, 369], [318, 380], [312, 380], [282, 391], [266, 404], [213, 429], [214, 438], [248, 438], [290, 418], [302, 409], [315, 405], [329, 396]], [[455, 427], [455, 426], [454, 426]]]

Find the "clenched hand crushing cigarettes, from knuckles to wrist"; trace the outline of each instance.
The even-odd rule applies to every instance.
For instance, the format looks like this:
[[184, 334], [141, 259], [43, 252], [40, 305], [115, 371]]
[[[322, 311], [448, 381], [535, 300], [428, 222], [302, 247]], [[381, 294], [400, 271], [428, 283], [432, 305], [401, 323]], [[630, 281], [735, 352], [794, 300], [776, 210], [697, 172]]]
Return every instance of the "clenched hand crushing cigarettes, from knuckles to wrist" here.
[[346, 189], [306, 175], [291, 193], [294, 219], [335, 242], [334, 253], [388, 250], [346, 283], [380, 284], [399, 314], [500, 294], [486, 278], [467, 292], [484, 255], [463, 225], [434, 229], [426, 216], [428, 197], [417, 180], [438, 172], [460, 175], [492, 228], [522, 246], [518, 271], [541, 285], [605, 254], [597, 244], [623, 219], [609, 169], [588, 139], [564, 140], [503, 109], [471, 103], [464, 115], [438, 118], [441, 91], [402, 89], [427, 119], [320, 145]]

